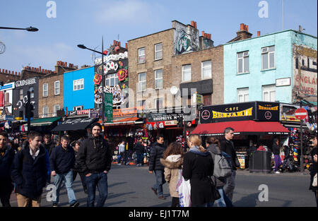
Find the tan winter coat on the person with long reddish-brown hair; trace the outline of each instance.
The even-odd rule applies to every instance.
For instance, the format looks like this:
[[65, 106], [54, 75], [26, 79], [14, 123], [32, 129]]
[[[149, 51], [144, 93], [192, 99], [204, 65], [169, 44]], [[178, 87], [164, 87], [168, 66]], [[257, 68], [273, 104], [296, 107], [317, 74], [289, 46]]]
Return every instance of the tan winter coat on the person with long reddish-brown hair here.
[[160, 158], [160, 162], [165, 166], [165, 181], [169, 185], [170, 196], [179, 198], [179, 193], [175, 189], [179, 178], [179, 169], [182, 169], [183, 158], [181, 155], [170, 155], [165, 160]]

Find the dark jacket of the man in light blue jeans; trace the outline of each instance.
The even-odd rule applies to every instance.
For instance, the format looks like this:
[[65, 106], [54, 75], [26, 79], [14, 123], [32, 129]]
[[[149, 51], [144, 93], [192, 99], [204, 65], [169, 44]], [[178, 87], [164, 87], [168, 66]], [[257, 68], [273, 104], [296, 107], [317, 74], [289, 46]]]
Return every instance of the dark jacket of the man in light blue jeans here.
[[51, 171], [57, 174], [66, 174], [75, 164], [75, 151], [70, 145], [66, 150], [61, 145], [56, 146], [49, 157]]

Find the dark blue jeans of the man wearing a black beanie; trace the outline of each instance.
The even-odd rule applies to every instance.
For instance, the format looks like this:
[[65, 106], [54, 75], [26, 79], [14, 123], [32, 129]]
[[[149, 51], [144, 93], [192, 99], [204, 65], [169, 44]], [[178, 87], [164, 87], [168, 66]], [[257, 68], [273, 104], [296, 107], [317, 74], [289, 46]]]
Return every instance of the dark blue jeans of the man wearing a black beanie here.
[[96, 186], [100, 193], [97, 207], [103, 207], [108, 194], [107, 174], [104, 172], [91, 174], [89, 177], [85, 177], [87, 186], [87, 207], [95, 206], [95, 191]]

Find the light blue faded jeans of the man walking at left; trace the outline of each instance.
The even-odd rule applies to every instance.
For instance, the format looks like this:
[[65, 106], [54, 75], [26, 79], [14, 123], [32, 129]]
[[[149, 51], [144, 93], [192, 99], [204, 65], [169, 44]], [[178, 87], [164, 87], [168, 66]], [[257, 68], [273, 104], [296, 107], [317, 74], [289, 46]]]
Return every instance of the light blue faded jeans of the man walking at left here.
[[63, 181], [66, 186], [67, 196], [69, 197], [69, 204], [76, 203], [75, 193], [72, 189], [73, 172], [71, 170], [65, 174], [57, 174], [54, 177], [54, 185], [57, 187], [57, 189], [55, 195], [53, 195], [53, 203], [59, 203], [59, 191], [61, 190], [61, 185]]

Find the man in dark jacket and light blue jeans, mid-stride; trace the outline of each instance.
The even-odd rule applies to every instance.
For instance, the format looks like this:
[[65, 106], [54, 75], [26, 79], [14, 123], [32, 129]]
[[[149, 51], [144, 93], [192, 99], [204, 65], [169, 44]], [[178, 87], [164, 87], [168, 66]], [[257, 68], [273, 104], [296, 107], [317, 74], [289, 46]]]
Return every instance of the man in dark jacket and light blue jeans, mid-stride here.
[[52, 176], [54, 177], [54, 184], [56, 186], [55, 194], [53, 195], [53, 207], [59, 204], [59, 191], [61, 190], [62, 182], [64, 181], [69, 197], [69, 205], [77, 207], [79, 203], [76, 201], [75, 193], [73, 191], [73, 171], [71, 170], [75, 164], [75, 152], [69, 145], [69, 138], [67, 136], [61, 137], [61, 145], [58, 145], [52, 150], [49, 157]]

